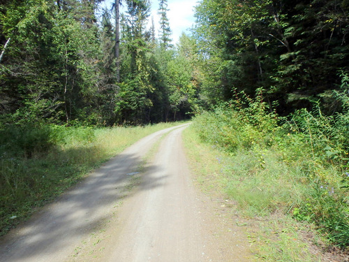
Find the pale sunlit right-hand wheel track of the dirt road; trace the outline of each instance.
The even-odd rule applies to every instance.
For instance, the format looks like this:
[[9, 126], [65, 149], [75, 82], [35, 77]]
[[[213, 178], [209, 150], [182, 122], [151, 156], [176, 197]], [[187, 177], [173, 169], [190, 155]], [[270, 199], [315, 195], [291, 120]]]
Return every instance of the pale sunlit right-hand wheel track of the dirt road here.
[[162, 141], [140, 190], [121, 208], [114, 247], [103, 261], [203, 261], [198, 200], [175, 129]]

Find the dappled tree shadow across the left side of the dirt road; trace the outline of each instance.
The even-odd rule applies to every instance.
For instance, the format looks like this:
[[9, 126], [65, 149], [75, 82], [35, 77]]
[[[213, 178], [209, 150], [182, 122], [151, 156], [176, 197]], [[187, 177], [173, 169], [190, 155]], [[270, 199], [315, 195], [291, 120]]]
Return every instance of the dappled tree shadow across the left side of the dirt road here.
[[[72, 253], [76, 242], [103, 226], [121, 199], [137, 192], [130, 190], [129, 174], [137, 172], [141, 160], [138, 154], [119, 154], [34, 214], [1, 240], [1, 261], [47, 261], [52, 254]], [[158, 167], [147, 166], [148, 172], [141, 175], [155, 170]], [[164, 177], [149, 177], [138, 189], [159, 187]]]

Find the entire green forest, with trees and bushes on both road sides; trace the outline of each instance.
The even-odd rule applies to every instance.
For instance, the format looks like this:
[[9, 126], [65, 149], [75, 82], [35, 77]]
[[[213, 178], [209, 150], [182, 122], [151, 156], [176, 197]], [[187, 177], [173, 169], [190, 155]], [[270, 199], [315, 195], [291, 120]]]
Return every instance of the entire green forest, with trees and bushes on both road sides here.
[[348, 247], [348, 0], [200, 0], [191, 34], [175, 44], [168, 1], [158, 1], [159, 31], [149, 0], [101, 3], [1, 2], [2, 166], [73, 127], [89, 140], [94, 127], [196, 116], [207, 143], [231, 154], [278, 147], [307, 182], [297, 181], [332, 188], [285, 205]]

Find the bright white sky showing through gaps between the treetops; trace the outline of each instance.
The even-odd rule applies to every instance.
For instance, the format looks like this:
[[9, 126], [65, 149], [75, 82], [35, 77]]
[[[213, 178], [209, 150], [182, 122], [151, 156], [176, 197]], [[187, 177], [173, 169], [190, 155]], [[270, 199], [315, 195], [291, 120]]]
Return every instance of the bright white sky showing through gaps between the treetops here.
[[[172, 30], [172, 42], [177, 43], [179, 36], [184, 31], [186, 32], [195, 22], [194, 6], [198, 0], [168, 0], [168, 20]], [[110, 8], [114, 0], [106, 0], [104, 5]], [[122, 12], [122, 10], [121, 10]], [[151, 0], [151, 16], [154, 17], [156, 34], [158, 34], [158, 0]], [[149, 17], [149, 25], [151, 21]]]

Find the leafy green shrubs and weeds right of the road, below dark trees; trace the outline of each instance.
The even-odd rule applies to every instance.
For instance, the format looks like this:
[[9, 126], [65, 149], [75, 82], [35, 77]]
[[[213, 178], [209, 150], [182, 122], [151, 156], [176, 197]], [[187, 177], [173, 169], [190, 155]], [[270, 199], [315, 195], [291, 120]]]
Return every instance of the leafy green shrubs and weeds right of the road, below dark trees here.
[[299, 110], [277, 117], [245, 94], [195, 117], [200, 139], [230, 156], [217, 159], [225, 190], [251, 216], [282, 211], [314, 224], [332, 245], [349, 246], [349, 113]]

